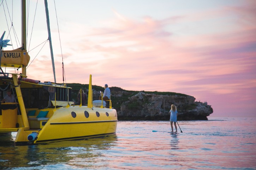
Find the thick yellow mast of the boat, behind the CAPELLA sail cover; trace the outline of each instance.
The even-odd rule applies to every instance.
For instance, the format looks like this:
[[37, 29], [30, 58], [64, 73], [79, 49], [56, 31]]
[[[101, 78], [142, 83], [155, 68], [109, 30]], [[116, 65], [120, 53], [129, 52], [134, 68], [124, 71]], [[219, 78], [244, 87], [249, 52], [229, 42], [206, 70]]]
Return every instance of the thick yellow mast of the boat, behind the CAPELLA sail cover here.
[[[26, 0], [22, 1], [22, 50], [27, 50], [26, 46]], [[26, 75], [26, 66], [22, 65], [22, 74]]]

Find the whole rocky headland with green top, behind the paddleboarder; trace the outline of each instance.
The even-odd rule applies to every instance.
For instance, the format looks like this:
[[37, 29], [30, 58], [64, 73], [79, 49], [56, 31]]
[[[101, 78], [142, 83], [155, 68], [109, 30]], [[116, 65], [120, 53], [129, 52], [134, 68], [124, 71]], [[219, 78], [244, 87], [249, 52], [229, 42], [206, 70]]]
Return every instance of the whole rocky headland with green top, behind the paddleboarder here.
[[[104, 91], [93, 86], [93, 100], [99, 99], [100, 90]], [[181, 93], [127, 91], [120, 87], [110, 90], [112, 107], [117, 110], [119, 120], [169, 120], [171, 104], [177, 107], [178, 120], [208, 120], [207, 116], [213, 113], [207, 102], [196, 102], [194, 97]]]

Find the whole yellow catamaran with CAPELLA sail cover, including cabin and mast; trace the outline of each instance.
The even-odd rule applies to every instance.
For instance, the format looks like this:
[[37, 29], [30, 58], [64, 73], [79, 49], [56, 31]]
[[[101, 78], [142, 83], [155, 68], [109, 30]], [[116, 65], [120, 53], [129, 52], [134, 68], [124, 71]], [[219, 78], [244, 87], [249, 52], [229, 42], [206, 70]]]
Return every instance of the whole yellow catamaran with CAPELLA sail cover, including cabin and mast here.
[[100, 106], [93, 105], [91, 75], [87, 106], [70, 102], [71, 88], [66, 85], [41, 83], [27, 78], [26, 66], [30, 56], [25, 45], [25, 4], [23, 0], [23, 46], [10, 51], [1, 50], [1, 67], [22, 68], [22, 74], [4, 73], [1, 69], [0, 97], [4, 98], [7, 90], [11, 90], [16, 102], [0, 104], [0, 140], [1, 134], [10, 132], [17, 132], [16, 144], [40, 144], [115, 134], [117, 112], [111, 107], [104, 107], [103, 102]]

